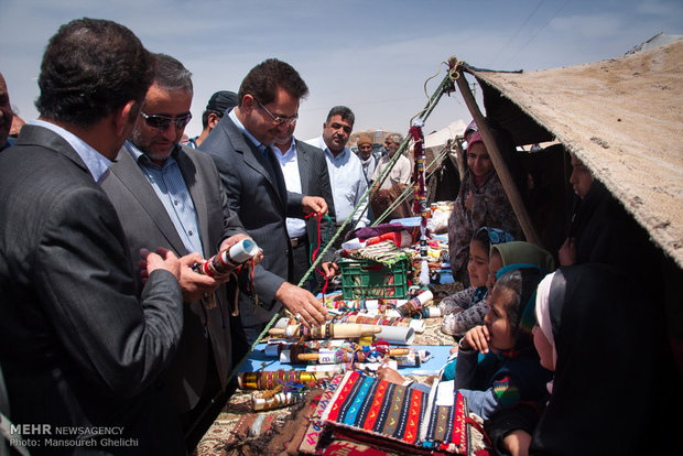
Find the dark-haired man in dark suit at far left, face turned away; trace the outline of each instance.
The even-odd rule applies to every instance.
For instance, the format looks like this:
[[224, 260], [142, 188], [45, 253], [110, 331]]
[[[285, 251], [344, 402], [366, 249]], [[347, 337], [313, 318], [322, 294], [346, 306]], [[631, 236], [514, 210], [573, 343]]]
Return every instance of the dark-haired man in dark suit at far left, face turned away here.
[[0, 154], [0, 363], [10, 419], [36, 443], [33, 455], [56, 445], [66, 445], [62, 454], [184, 454], [158, 382], [181, 336], [180, 261], [144, 252], [140, 290], [98, 185], [139, 116], [153, 64], [115, 22], [63, 25], [43, 56], [40, 120]]

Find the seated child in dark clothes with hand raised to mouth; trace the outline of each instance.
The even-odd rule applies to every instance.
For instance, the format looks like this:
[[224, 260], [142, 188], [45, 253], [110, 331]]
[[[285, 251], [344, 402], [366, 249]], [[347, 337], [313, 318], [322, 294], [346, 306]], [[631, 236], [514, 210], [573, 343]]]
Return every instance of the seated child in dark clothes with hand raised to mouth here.
[[[538, 268], [522, 264], [503, 268], [499, 274], [485, 325], [467, 332], [459, 343], [455, 373], [455, 389], [467, 399], [469, 410], [484, 420], [520, 402], [542, 401], [551, 379], [539, 363], [531, 336], [535, 290], [543, 274]], [[485, 355], [481, 361], [479, 354]], [[380, 369], [378, 377], [404, 382], [390, 368]], [[430, 387], [419, 383], [415, 388]]]

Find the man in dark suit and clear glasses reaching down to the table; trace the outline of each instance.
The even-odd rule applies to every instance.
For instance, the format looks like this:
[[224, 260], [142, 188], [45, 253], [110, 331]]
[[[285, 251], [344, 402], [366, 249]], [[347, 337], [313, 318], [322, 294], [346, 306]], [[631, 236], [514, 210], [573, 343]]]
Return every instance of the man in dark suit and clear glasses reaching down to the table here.
[[[271, 145], [288, 123], [296, 121], [300, 100], [308, 93], [299, 73], [271, 58], [252, 68], [238, 91], [238, 106], [224, 116], [199, 150], [216, 163], [230, 209], [263, 249], [257, 267], [256, 293], [240, 293], [240, 321], [251, 345], [284, 305], [306, 325], [323, 324], [326, 311], [307, 290], [288, 282], [292, 248], [285, 219], [325, 214], [321, 197], [288, 193]], [[258, 305], [254, 303], [258, 298]]]

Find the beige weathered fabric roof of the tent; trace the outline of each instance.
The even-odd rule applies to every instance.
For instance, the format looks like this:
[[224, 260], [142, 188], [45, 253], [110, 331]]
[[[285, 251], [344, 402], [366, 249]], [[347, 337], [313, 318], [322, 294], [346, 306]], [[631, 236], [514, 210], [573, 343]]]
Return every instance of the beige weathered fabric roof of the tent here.
[[683, 268], [683, 40], [530, 73], [465, 69], [518, 145], [556, 138]]

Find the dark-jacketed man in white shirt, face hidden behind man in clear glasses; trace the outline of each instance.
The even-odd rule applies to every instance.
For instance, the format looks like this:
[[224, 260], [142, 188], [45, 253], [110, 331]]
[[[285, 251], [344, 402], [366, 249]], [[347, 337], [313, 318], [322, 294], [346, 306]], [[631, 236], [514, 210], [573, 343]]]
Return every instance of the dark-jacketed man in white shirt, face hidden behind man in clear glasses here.
[[[321, 196], [327, 203], [328, 211], [332, 214], [319, 220], [317, 217], [307, 219], [290, 218], [286, 219], [288, 235], [292, 245], [293, 273], [294, 283], [301, 282], [306, 271], [311, 268], [311, 254], [318, 250], [322, 252], [336, 229], [334, 219], [334, 200], [332, 196], [332, 187], [329, 186], [329, 174], [327, 173], [327, 163], [325, 153], [294, 138], [295, 123], [289, 123], [284, 131], [275, 138], [273, 150], [280, 162], [280, 167], [284, 175], [288, 191], [302, 193], [304, 195]], [[319, 220], [319, 237], [318, 237]], [[308, 276], [304, 283], [311, 292], [315, 292], [318, 282], [324, 282], [325, 276], [329, 273], [329, 262], [334, 258], [334, 250], [328, 250], [324, 261], [321, 263], [318, 271]], [[324, 274], [324, 275], [321, 275]]]

